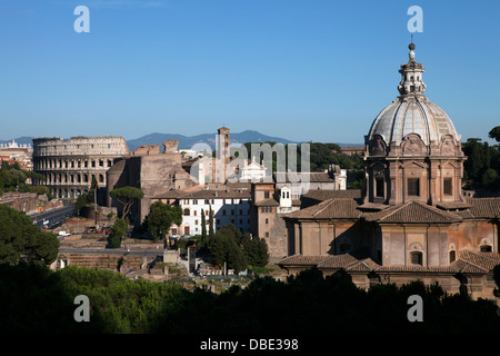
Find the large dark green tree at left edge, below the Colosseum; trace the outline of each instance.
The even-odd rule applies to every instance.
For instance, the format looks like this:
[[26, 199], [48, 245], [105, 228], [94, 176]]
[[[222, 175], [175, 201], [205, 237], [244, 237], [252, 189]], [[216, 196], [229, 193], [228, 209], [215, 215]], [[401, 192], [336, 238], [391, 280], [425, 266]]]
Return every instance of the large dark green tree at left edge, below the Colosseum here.
[[59, 240], [43, 233], [21, 211], [0, 205], [0, 263], [52, 264], [59, 253]]

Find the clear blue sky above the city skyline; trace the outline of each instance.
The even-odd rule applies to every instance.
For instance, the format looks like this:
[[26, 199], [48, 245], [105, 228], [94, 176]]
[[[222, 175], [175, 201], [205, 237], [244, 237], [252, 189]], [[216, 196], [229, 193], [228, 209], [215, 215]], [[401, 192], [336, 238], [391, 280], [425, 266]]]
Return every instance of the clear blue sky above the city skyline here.
[[[77, 33], [77, 6], [90, 33]], [[500, 125], [500, 1], [0, 0], [0, 139], [198, 135], [363, 142], [398, 96], [410, 6], [428, 98]]]

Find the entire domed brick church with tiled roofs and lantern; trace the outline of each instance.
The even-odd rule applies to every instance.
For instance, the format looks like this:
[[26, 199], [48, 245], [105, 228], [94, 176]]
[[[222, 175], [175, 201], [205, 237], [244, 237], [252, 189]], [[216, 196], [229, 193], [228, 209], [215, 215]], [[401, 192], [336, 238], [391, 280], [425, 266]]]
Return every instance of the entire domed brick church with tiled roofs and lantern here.
[[500, 198], [464, 197], [461, 137], [424, 96], [423, 66], [409, 48], [400, 96], [366, 136], [366, 189], [287, 215], [288, 256], [278, 265], [344, 270], [360, 287], [420, 279], [493, 298]]

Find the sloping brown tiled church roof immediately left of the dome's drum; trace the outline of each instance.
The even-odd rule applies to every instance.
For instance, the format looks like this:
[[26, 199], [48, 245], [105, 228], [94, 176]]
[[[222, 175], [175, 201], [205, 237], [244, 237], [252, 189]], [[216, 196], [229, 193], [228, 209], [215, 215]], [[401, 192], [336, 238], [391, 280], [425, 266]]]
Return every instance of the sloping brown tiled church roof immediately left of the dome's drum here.
[[286, 215], [298, 219], [358, 219], [361, 211], [354, 199], [328, 199], [309, 208]]

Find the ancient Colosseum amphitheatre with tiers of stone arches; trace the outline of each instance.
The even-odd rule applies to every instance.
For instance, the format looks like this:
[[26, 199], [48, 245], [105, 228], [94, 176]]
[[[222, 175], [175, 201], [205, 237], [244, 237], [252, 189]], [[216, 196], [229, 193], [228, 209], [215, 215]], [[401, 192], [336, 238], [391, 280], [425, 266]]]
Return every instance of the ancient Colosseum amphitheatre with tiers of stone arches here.
[[119, 136], [34, 138], [33, 170], [46, 177], [46, 185], [57, 198], [74, 199], [90, 189], [93, 177], [106, 189], [106, 172], [129, 155]]

